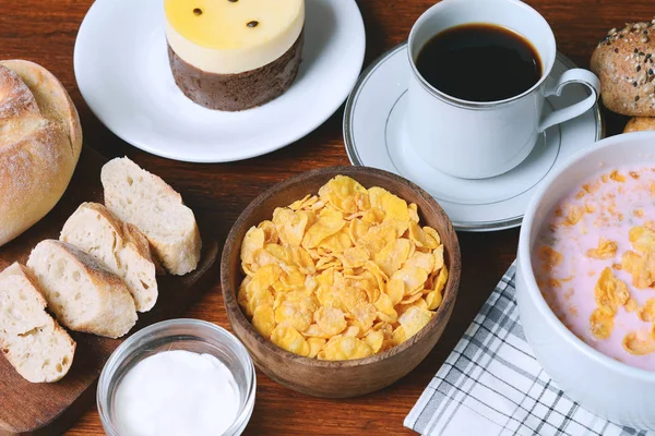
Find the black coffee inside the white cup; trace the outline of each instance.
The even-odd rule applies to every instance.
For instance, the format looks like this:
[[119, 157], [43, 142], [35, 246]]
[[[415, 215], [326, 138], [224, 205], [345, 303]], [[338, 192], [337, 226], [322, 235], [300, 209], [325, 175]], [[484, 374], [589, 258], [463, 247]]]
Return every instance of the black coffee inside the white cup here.
[[420, 49], [416, 64], [430, 85], [468, 101], [514, 97], [541, 78], [532, 44], [493, 24], [464, 24], [437, 34]]

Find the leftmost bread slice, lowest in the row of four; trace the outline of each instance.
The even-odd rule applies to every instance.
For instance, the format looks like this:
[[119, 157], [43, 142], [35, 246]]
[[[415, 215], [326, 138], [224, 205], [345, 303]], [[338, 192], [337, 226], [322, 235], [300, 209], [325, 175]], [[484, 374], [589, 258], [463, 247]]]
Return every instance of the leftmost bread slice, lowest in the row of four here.
[[23, 378], [60, 380], [70, 370], [75, 341], [45, 311], [32, 274], [15, 263], [0, 272], [0, 349]]

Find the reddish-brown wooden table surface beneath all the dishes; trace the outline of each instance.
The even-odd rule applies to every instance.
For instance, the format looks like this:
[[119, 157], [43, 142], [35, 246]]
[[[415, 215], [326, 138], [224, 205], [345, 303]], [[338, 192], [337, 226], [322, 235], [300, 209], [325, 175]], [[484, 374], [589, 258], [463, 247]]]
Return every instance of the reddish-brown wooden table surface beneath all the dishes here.
[[[342, 137], [343, 108], [297, 143], [266, 156], [234, 164], [177, 162], [145, 154], [122, 142], [90, 111], [73, 73], [78, 28], [92, 2], [0, 1], [0, 59], [28, 59], [49, 69], [66, 85], [78, 106], [85, 143], [107, 157], [127, 155], [164, 178], [184, 194], [186, 202], [198, 214], [206, 214], [213, 219], [215, 234], [212, 238], [224, 241], [239, 213], [272, 184], [313, 168], [348, 164]], [[366, 65], [405, 40], [415, 20], [433, 3], [431, 0], [357, 2], [366, 23]], [[655, 15], [653, 0], [528, 0], [528, 3], [551, 24], [558, 49], [586, 68], [592, 50], [607, 29], [622, 26], [624, 22], [651, 20]], [[126, 13], [130, 11], [126, 10]], [[119, 27], [117, 23], [117, 32]], [[618, 133], [624, 121], [606, 113], [608, 135]], [[362, 398], [324, 400], [296, 393], [258, 373], [257, 403], [246, 434], [410, 434], [403, 427], [405, 415], [514, 259], [517, 238], [516, 229], [460, 233], [463, 274], [454, 314], [434, 350], [408, 376]], [[188, 316], [228, 327], [218, 282]], [[88, 412], [68, 434], [104, 434], [95, 405], [90, 405]]]

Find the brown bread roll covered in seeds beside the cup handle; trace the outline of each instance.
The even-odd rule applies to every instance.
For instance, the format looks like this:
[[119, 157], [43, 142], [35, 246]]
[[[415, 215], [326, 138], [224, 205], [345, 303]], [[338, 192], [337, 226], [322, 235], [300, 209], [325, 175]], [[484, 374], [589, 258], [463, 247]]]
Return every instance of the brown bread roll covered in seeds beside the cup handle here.
[[655, 20], [612, 28], [592, 55], [607, 109], [655, 117]]

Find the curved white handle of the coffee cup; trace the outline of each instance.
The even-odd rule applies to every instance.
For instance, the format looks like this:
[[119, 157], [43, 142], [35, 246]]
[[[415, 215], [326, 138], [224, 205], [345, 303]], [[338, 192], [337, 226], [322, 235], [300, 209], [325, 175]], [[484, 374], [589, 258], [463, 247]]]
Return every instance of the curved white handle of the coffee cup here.
[[546, 87], [545, 95], [559, 96], [562, 93], [564, 86], [570, 85], [572, 83], [581, 83], [585, 85], [592, 90], [592, 95], [582, 101], [579, 101], [563, 109], [558, 109], [544, 117], [541, 119], [541, 122], [539, 123], [539, 133], [544, 132], [551, 125], [562, 123], [572, 118], [583, 114], [592, 107], [594, 107], [594, 105], [598, 100], [598, 96], [600, 95], [600, 81], [598, 80], [598, 77], [596, 77], [596, 74], [583, 69], [572, 69], [564, 72], [564, 74], [562, 74], [557, 81], [555, 81]]

